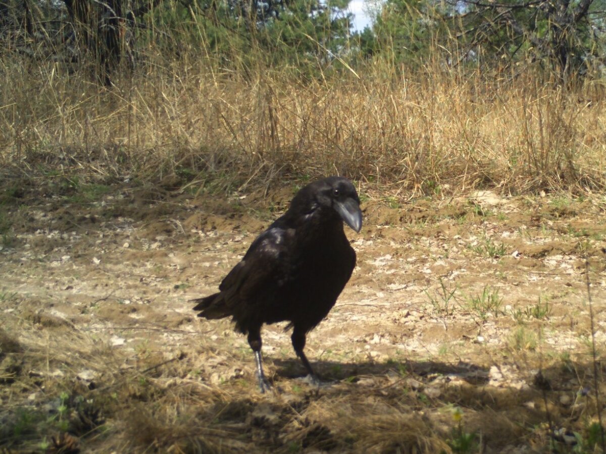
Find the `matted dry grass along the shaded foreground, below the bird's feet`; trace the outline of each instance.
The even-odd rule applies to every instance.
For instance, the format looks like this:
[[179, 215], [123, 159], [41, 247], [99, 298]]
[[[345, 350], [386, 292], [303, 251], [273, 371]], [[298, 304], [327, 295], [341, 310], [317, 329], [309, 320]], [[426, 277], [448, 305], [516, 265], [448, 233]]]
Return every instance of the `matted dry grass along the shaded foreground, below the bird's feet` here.
[[[427, 366], [443, 376], [424, 372], [421, 363], [419, 373], [403, 372], [397, 363], [375, 364], [370, 375], [319, 392], [279, 380], [280, 392], [264, 396], [252, 376], [223, 384], [190, 378], [196, 363], [215, 358], [207, 346], [191, 341], [177, 357], [141, 355], [132, 364], [123, 352], [93, 345], [96, 336], [38, 326], [21, 324], [24, 356], [12, 387], [19, 393], [0, 411], [0, 444], [9, 449], [62, 452], [71, 442], [88, 452], [476, 453], [487, 447], [517, 452], [516, 446], [601, 452], [589, 429], [596, 415], [593, 396], [579, 393], [567, 414], [560, 403], [567, 391], [545, 395], [540, 384], [498, 389], [486, 386], [481, 373], [478, 383], [448, 383], [445, 377], [463, 370], [455, 361]], [[238, 361], [250, 360], [245, 358]], [[510, 360], [530, 369], [544, 358], [524, 352]], [[591, 364], [576, 358], [574, 372], [549, 362], [551, 383], [580, 382], [587, 377], [575, 379], [575, 373], [591, 373]], [[78, 378], [82, 370], [93, 370], [97, 378]], [[436, 386], [440, 395], [432, 397]], [[28, 393], [32, 397], [22, 401]], [[581, 437], [574, 451], [553, 438], [567, 424]]]

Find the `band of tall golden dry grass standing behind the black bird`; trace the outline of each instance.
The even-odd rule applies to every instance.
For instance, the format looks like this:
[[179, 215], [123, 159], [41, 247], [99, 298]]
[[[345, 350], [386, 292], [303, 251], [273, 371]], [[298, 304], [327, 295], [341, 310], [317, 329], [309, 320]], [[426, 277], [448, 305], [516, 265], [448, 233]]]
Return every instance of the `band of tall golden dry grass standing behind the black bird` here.
[[86, 70], [5, 53], [2, 166], [238, 186], [339, 173], [425, 194], [604, 186], [600, 81], [563, 88], [530, 69], [482, 74], [439, 59], [415, 72], [381, 58], [356, 70], [336, 60], [341, 70], [313, 79], [220, 61], [150, 47], [106, 89]]

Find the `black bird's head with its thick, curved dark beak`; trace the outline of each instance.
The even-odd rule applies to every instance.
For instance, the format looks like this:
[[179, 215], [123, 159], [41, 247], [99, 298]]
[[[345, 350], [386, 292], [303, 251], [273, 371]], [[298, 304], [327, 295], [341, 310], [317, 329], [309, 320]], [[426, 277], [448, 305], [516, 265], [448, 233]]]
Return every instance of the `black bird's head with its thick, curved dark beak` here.
[[310, 183], [299, 191], [291, 208], [305, 206], [308, 214], [334, 210], [345, 223], [359, 232], [362, 228], [362, 211], [360, 198], [350, 180], [344, 177], [328, 177]]

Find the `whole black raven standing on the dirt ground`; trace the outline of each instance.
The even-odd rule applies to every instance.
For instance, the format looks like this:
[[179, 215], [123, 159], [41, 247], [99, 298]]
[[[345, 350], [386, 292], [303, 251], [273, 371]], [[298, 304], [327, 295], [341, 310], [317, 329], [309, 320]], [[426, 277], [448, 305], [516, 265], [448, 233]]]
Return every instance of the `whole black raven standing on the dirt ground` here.
[[231, 317], [255, 352], [261, 392], [269, 389], [261, 356], [261, 326], [289, 321], [296, 354], [319, 383], [305, 357], [305, 337], [333, 308], [356, 266], [343, 221], [356, 232], [362, 212], [356, 188], [343, 177], [328, 177], [302, 188], [290, 208], [262, 232], [219, 285], [219, 293], [198, 298], [195, 311], [208, 319]]

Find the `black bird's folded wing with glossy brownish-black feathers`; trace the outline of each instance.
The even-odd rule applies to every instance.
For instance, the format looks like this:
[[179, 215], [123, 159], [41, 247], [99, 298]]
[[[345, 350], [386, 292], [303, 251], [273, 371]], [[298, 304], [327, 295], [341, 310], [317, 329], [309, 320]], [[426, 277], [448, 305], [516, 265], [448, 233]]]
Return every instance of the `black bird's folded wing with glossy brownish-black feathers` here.
[[292, 238], [292, 229], [278, 226], [267, 229], [250, 245], [242, 261], [225, 276], [219, 290], [231, 298], [248, 302], [275, 291], [288, 275]]

